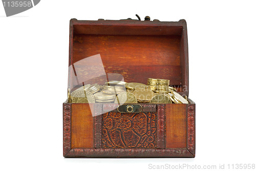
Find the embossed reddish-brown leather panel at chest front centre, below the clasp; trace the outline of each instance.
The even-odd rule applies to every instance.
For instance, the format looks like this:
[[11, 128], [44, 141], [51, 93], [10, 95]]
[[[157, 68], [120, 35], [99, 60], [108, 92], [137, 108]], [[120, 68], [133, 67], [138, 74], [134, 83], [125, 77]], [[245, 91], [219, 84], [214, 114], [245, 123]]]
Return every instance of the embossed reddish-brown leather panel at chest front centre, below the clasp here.
[[156, 148], [156, 113], [102, 115], [102, 148]]

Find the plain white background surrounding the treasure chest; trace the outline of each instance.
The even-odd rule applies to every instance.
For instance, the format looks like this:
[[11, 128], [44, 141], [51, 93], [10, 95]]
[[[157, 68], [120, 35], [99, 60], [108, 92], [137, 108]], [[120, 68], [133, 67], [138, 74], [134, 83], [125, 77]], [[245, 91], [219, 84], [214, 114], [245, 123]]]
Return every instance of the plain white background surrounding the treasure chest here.
[[[194, 159], [62, 157], [69, 20], [186, 19]], [[6, 17], [0, 5], [0, 169], [148, 170], [148, 164], [256, 164], [253, 1], [41, 1]], [[217, 167], [218, 168], [218, 167]], [[151, 169], [152, 170], [152, 169]]]

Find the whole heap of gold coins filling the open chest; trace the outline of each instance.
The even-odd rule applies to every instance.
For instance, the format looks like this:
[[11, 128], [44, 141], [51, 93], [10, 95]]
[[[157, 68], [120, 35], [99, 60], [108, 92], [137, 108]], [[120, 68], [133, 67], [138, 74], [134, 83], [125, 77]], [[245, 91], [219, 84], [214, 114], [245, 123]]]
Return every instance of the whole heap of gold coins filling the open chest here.
[[188, 103], [167, 79], [148, 78], [147, 85], [138, 82], [109, 81], [82, 86], [68, 92], [72, 103]]

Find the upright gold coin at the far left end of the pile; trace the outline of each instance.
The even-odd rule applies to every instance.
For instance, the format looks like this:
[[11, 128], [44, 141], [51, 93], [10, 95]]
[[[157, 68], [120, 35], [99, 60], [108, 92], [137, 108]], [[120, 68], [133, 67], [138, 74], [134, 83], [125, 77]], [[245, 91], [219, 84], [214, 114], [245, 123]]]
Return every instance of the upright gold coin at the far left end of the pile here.
[[72, 103], [95, 103], [94, 95], [88, 91], [78, 91], [71, 96]]

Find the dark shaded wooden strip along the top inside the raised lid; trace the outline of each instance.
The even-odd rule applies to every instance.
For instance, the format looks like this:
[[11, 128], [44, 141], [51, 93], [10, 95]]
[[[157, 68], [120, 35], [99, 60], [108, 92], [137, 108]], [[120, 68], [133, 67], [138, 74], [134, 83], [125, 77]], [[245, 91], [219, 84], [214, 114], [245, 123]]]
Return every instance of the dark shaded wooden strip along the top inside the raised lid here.
[[139, 20], [71, 19], [76, 34], [103, 35], [181, 35], [183, 22], [151, 22]]

